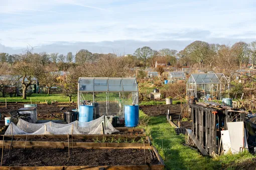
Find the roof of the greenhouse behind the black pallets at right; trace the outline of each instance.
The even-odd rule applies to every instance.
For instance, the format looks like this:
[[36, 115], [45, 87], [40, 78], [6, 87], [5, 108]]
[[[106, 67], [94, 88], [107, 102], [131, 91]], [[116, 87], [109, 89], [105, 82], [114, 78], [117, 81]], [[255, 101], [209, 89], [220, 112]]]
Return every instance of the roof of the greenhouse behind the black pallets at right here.
[[188, 83], [196, 83], [196, 84], [207, 84], [214, 83], [220, 84], [221, 77], [225, 77], [223, 73], [200, 73], [200, 74], [191, 74]]

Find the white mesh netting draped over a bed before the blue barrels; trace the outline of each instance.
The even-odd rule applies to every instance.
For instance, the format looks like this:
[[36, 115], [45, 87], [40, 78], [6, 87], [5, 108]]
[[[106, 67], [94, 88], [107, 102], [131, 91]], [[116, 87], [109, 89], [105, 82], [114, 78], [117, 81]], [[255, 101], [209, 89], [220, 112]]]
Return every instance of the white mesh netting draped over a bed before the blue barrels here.
[[[108, 116], [109, 117], [109, 116]], [[110, 121], [112, 116], [110, 116]], [[30, 123], [23, 119], [19, 119], [17, 125], [13, 122], [9, 125], [6, 130], [5, 135], [13, 134], [103, 134], [102, 122], [105, 124], [105, 134], [111, 134], [113, 132], [118, 132], [104, 115], [89, 121], [80, 122], [73, 121], [69, 124], [60, 124], [52, 121], [46, 123]]]

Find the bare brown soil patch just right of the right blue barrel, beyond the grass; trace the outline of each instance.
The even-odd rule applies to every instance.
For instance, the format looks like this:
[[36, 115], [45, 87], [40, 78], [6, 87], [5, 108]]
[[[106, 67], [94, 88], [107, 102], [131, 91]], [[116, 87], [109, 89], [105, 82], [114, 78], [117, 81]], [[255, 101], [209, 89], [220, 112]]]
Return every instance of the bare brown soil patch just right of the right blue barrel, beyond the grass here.
[[180, 104], [140, 105], [140, 109], [150, 116], [166, 115], [168, 109], [170, 109], [171, 115], [176, 116], [178, 114], [178, 118], [181, 111]]

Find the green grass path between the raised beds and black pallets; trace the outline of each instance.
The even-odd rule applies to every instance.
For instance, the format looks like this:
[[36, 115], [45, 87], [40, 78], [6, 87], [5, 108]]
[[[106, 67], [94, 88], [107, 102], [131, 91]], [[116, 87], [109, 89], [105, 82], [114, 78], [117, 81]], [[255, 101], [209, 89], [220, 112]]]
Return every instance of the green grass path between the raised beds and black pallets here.
[[[147, 115], [140, 110], [140, 119], [147, 119], [145, 116]], [[153, 138], [152, 143], [164, 159], [166, 169], [220, 169], [224, 165], [232, 166], [233, 163], [255, 157], [248, 152], [215, 158], [202, 156], [196, 150], [182, 144], [185, 143], [185, 135], [176, 135], [166, 116], [152, 116], [148, 125], [140, 127], [145, 128], [147, 134]]]

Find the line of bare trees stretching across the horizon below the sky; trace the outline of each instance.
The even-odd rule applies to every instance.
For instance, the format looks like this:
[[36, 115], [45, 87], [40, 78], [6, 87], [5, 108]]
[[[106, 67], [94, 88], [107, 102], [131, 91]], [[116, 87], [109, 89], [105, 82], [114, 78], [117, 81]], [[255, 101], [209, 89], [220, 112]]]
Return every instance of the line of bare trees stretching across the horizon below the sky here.
[[[256, 41], [251, 43], [239, 41], [233, 45], [226, 45], [197, 40], [180, 51], [170, 48], [154, 50], [144, 46], [136, 49], [133, 54], [124, 56], [114, 53], [92, 53], [87, 49], [81, 49], [76, 54], [68, 52], [66, 55], [35, 53], [33, 47], [28, 47], [21, 54], [0, 53], [2, 63], [0, 74], [20, 75], [24, 98], [26, 98], [26, 89], [32, 83], [32, 77], [37, 77], [41, 84], [46, 85], [48, 93], [53, 85], [62, 82], [60, 86], [64, 91], [69, 92], [70, 96], [77, 88], [76, 82], [79, 76], [122, 77], [129, 74], [129, 68], [155, 66], [156, 61], [176, 68], [187, 66], [230, 75], [233, 70], [242, 69], [248, 64], [254, 68]], [[68, 77], [57, 80], [60, 70], [67, 71]], [[70, 90], [71, 87], [74, 89]]]

